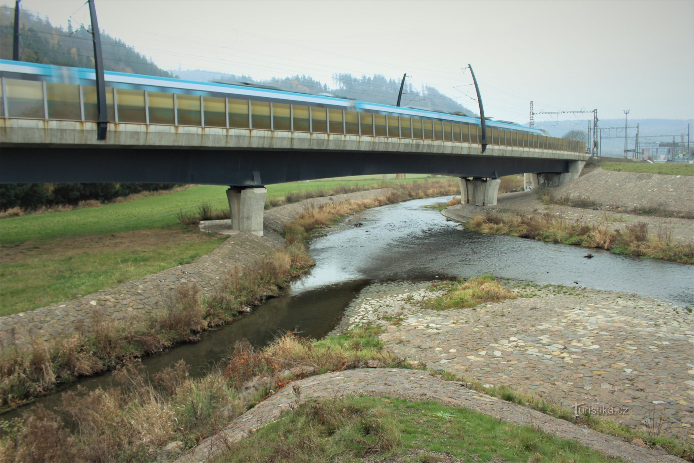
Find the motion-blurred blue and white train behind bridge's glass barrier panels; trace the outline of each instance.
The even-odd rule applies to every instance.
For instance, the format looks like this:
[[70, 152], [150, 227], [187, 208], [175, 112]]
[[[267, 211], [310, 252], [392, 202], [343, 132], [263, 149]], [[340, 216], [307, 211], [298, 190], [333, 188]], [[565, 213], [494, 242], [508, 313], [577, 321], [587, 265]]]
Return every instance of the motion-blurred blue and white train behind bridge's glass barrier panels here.
[[[477, 127], [480, 126], [480, 119], [475, 117], [337, 96], [112, 71], [105, 71], [104, 74], [109, 121], [112, 122], [271, 128], [376, 136], [391, 136], [391, 131], [397, 128], [398, 135], [395, 136], [452, 141], [474, 141]], [[0, 77], [4, 106], [1, 116], [43, 118], [46, 115], [48, 119], [95, 120], [94, 69], [0, 60]], [[325, 108], [323, 115], [311, 115], [311, 110], [318, 112], [316, 108]], [[249, 121], [251, 114], [252, 121]], [[497, 140], [496, 144], [510, 146], [527, 146], [523, 140], [532, 142], [533, 135], [541, 138], [548, 135], [543, 130], [508, 121], [489, 120], [486, 127], [492, 130], [489, 133], [501, 137], [501, 142]], [[363, 133], [364, 130], [367, 133]], [[437, 131], [441, 132], [440, 137]], [[466, 135], [471, 133], [474, 137]], [[467, 137], [470, 138], [465, 140]], [[520, 144], [512, 144], [511, 137]], [[489, 142], [493, 143], [492, 140]]]

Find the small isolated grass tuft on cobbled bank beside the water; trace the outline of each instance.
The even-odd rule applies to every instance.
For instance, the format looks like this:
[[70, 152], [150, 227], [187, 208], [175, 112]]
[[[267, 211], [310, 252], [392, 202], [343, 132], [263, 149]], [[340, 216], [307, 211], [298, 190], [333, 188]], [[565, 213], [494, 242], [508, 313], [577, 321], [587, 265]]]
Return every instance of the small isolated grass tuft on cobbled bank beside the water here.
[[516, 298], [516, 293], [502, 287], [491, 274], [470, 278], [467, 281], [437, 283], [434, 287], [446, 287], [443, 295], [428, 299], [424, 303], [426, 308], [436, 310], [472, 308], [482, 303]]

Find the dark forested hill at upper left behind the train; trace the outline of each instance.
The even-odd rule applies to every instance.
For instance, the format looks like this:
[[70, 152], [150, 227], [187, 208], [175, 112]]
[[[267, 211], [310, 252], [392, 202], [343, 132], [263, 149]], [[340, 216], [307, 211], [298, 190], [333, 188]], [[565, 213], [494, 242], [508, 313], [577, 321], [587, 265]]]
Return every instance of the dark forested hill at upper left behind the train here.
[[[48, 18], [41, 19], [22, 10], [19, 23], [22, 37], [19, 49], [22, 61], [47, 65], [94, 67], [92, 35], [83, 27], [67, 30], [53, 26]], [[14, 6], [0, 6], [0, 58], [12, 59], [12, 39], [15, 24]], [[121, 40], [101, 32], [103, 67], [107, 71], [174, 77], [144, 55], [137, 53]]]

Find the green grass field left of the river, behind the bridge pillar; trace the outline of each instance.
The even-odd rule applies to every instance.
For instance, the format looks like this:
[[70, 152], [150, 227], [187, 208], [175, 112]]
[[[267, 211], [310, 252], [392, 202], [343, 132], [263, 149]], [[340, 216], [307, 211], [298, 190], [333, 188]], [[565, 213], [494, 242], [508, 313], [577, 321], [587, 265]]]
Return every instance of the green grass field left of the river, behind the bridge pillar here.
[[[410, 177], [387, 184], [424, 176]], [[268, 185], [267, 197], [340, 186], [381, 187], [375, 178]], [[210, 253], [226, 237], [181, 226], [177, 214], [196, 212], [202, 203], [228, 210], [226, 189], [201, 185], [99, 208], [0, 219], [0, 316], [85, 296]]]

